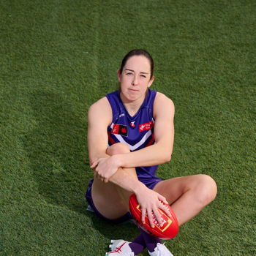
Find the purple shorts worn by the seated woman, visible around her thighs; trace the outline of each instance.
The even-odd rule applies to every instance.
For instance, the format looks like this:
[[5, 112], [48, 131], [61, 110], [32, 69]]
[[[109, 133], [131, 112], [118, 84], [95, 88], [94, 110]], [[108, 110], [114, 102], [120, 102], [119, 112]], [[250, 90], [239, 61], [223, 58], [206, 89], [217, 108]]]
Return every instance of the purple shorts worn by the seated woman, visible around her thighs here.
[[[159, 181], [162, 181], [161, 178], [157, 178], [157, 177], [156, 178], [141, 178], [141, 179], [139, 178], [139, 180], [143, 184], [145, 184], [146, 187], [148, 187], [148, 189], [154, 189], [154, 187], [157, 185], [157, 183]], [[91, 206], [91, 210], [93, 210], [95, 212], [95, 214], [97, 214], [99, 217], [102, 217], [102, 219], [107, 220], [108, 222], [113, 222], [113, 223], [116, 223], [116, 224], [127, 222], [130, 219], [132, 219], [132, 214], [130, 214], [129, 211], [126, 214], [124, 214], [124, 216], [122, 216], [122, 217], [120, 217], [118, 219], [108, 219], [108, 218], [104, 217], [97, 210], [97, 208], [94, 206], [94, 201], [92, 200], [92, 197], [91, 197], [91, 187], [92, 187], [93, 182], [94, 182], [93, 179], [89, 182], [89, 186], [88, 186], [87, 191], [86, 191], [86, 200], [89, 203], [89, 206]]]

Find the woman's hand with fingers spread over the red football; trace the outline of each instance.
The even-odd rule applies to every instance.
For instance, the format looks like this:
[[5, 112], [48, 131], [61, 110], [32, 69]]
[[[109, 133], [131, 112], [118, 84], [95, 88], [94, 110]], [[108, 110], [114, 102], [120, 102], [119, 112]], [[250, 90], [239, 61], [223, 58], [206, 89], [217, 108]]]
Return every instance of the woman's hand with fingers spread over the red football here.
[[[170, 212], [168, 208], [163, 204], [169, 204], [165, 197], [160, 195], [157, 192], [154, 192], [154, 190], [148, 189], [147, 187], [144, 187], [143, 189], [140, 189], [137, 193], [135, 193], [138, 203], [141, 207], [141, 221], [145, 223], [145, 217], [148, 216], [149, 223], [151, 227], [154, 227], [153, 222], [153, 214], [155, 219], [157, 219], [157, 222], [159, 223], [159, 226], [162, 227], [162, 219], [160, 217], [158, 208], [162, 209], [162, 211], [165, 211], [165, 213], [171, 217]], [[162, 203], [162, 202], [163, 203]]]

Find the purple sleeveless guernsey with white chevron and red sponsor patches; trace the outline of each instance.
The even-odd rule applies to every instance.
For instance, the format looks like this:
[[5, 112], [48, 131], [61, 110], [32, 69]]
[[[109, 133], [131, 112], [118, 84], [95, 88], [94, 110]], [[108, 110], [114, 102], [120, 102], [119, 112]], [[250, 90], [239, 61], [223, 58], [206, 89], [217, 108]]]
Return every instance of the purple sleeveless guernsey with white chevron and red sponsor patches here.
[[[119, 91], [106, 95], [113, 112], [113, 121], [108, 127], [108, 146], [121, 142], [127, 144], [130, 151], [136, 151], [155, 143], [153, 105], [156, 94], [157, 91], [148, 89], [146, 99], [135, 116], [129, 115]], [[160, 181], [155, 176], [156, 170], [157, 165], [136, 167], [138, 179], [144, 184], [148, 183], [148, 179]]]

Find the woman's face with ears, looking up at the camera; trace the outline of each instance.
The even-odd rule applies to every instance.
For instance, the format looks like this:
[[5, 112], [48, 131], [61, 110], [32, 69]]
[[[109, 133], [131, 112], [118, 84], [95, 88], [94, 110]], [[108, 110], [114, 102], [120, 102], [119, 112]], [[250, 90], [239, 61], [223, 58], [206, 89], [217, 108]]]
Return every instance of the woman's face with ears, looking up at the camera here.
[[150, 62], [145, 56], [132, 56], [124, 65], [123, 72], [118, 69], [118, 82], [121, 85], [123, 100], [144, 100], [147, 89], [151, 86], [154, 76], [151, 77]]

